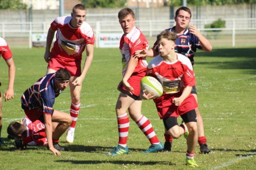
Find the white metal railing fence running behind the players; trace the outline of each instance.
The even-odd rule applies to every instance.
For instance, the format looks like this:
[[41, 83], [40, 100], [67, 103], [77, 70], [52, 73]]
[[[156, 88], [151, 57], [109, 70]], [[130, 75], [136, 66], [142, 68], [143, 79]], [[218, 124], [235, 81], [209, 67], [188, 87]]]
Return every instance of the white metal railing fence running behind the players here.
[[[208, 38], [213, 46], [239, 47], [241, 45], [256, 45], [256, 18], [224, 19], [225, 28], [204, 28], [214, 20], [191, 20], [190, 25], [195, 25], [199, 31]], [[118, 21], [88, 22], [93, 28], [96, 37], [95, 46], [98, 47], [100, 33], [121, 33]], [[156, 35], [166, 28], [175, 25], [174, 20], [136, 21], [136, 26], [148, 38], [149, 43], [155, 41]], [[33, 33], [47, 33], [50, 23], [16, 22], [0, 23], [0, 34], [10, 46], [32, 48]], [[152, 42], [151, 42], [152, 41]], [[221, 45], [223, 44], [223, 45]]]

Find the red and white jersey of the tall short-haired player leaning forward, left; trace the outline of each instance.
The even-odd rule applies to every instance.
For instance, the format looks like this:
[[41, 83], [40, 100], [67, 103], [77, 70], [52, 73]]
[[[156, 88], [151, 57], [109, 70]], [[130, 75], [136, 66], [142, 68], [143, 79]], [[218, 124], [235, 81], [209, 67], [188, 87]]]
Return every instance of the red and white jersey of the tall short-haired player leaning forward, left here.
[[72, 17], [58, 17], [51, 23], [56, 31], [56, 41], [51, 51], [51, 57], [65, 61], [79, 61], [86, 44], [94, 44], [94, 32], [89, 24], [83, 22], [79, 28], [72, 28], [69, 22]]

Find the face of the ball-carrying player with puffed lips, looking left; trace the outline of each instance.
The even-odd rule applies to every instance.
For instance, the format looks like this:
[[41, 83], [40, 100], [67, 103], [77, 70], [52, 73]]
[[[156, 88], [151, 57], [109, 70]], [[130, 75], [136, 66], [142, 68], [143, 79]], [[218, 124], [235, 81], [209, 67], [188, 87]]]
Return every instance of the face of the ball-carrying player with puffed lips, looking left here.
[[158, 42], [159, 54], [166, 57], [175, 48], [175, 42], [166, 38], [161, 38]]

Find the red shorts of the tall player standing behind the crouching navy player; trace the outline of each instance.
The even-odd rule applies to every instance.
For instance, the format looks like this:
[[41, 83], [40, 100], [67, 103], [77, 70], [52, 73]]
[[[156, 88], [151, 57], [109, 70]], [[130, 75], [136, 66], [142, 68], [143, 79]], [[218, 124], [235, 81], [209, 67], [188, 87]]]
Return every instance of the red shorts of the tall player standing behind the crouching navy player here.
[[67, 69], [71, 76], [79, 77], [81, 75], [81, 60], [64, 61], [58, 58], [51, 58], [47, 68], [55, 71], [58, 71], [59, 69]]

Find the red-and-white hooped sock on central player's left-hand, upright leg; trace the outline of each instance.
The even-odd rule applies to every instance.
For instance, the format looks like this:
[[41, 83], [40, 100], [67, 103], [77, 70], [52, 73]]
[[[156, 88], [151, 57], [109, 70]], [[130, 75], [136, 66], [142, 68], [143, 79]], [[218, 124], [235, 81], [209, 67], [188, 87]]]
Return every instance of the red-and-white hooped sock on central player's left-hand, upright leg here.
[[127, 113], [117, 116], [118, 135], [120, 146], [126, 147], [130, 121]]

